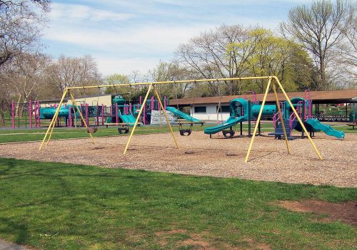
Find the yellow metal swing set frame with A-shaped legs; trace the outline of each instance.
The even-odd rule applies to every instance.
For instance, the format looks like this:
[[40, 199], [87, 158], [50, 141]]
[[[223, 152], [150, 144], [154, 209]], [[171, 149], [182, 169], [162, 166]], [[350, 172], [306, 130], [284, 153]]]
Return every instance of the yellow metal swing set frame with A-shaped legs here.
[[[268, 92], [271, 89], [271, 87], [272, 87], [273, 93], [274, 93], [274, 95], [276, 97], [276, 105], [278, 107], [278, 113], [279, 113], [279, 118], [281, 120], [281, 125], [283, 126], [283, 132], [284, 132], [284, 138], [285, 138], [285, 142], [286, 142], [286, 148], [288, 150], [288, 154], [291, 155], [291, 149], [290, 149], [290, 146], [288, 144], [288, 139], [287, 139], [287, 136], [286, 136], [286, 130], [285, 130], [284, 123], [283, 123], [283, 115], [281, 113], [281, 108], [280, 108], [280, 105], [279, 105], [278, 94], [276, 92], [276, 84], [281, 89], [281, 92], [283, 93], [284, 97], [286, 98], [286, 100], [290, 104], [291, 109], [293, 110], [293, 113], [295, 113], [296, 118], [298, 119], [298, 122], [300, 123], [301, 127], [303, 128], [304, 132], [306, 133], [306, 135], [308, 137], [308, 140], [310, 141], [310, 143], [311, 143], [311, 145], [313, 147], [313, 150], [315, 150], [315, 152], [316, 152], [316, 155], [318, 156], [319, 159], [322, 160], [320, 152], [318, 152], [318, 149], [317, 149], [316, 145], [313, 143], [313, 140], [311, 139], [308, 131], [306, 130], [306, 127], [303, 125], [303, 122], [301, 121], [301, 118], [299, 117], [298, 113], [296, 112], [296, 109], [293, 107], [293, 104], [291, 103], [290, 98], [288, 98], [288, 95], [286, 94], [285, 90], [283, 89], [283, 85], [281, 85], [280, 81], [278, 80], [278, 78], [276, 76], [198, 79], [198, 80], [174, 80], [174, 81], [161, 81], [161, 82], [152, 82], [152, 83], [124, 83], [124, 84], [114, 84], [114, 85], [91, 85], [91, 86], [83, 86], [83, 87], [69, 87], [69, 88], [66, 88], [64, 90], [64, 93], [62, 95], [61, 101], [59, 102], [59, 106], [56, 109], [54, 117], [52, 118], [51, 123], [50, 123], [50, 125], [49, 125], [49, 127], [48, 127], [48, 129], [46, 131], [46, 134], [44, 135], [44, 139], [41, 142], [39, 150], [42, 149], [42, 147], [44, 146], [44, 143], [46, 142], [46, 140], [47, 140], [46, 145], [49, 145], [49, 141], [51, 140], [52, 133], [54, 132], [54, 127], [56, 126], [56, 120], [58, 119], [58, 116], [59, 116], [59, 110], [60, 110], [61, 105], [64, 102], [64, 98], [66, 97], [67, 94], [69, 95], [69, 98], [71, 98], [72, 103], [76, 107], [76, 110], [78, 111], [78, 113], [79, 113], [79, 115], [81, 117], [81, 120], [82, 120], [82, 122], [84, 123], [84, 125], [86, 127], [86, 130], [89, 131], [89, 126], [86, 124], [86, 120], [84, 119], [84, 117], [83, 117], [83, 115], [81, 113], [81, 110], [79, 109], [79, 107], [78, 107], [78, 105], [76, 103], [76, 99], [74, 98], [74, 94], [72, 93], [71, 90], [79, 90], [79, 89], [86, 89], [86, 88], [109, 88], [109, 87], [120, 87], [120, 86], [149, 85], [149, 88], [148, 88], [148, 90], [146, 92], [146, 95], [145, 95], [143, 103], [146, 103], [146, 100], [148, 99], [149, 94], [151, 93], [151, 91], [153, 91], [154, 95], [156, 95], [156, 98], [159, 100], [159, 104], [160, 104], [161, 110], [163, 110], [166, 122], [169, 125], [169, 130], [170, 130], [171, 135], [172, 135], [172, 137], [174, 139], [174, 144], [175, 144], [176, 148], [178, 148], [178, 142], [177, 142], [176, 137], [174, 135], [174, 131], [172, 130], [171, 124], [169, 123], [169, 119], [167, 118], [166, 110], [164, 110], [164, 105], [161, 102], [161, 97], [160, 97], [158, 91], [155, 88], [156, 85], [173, 84], [173, 83], [174, 84], [176, 84], [176, 83], [203, 83], [203, 82], [209, 82], [209, 81], [220, 82], [220, 81], [223, 81], [223, 80], [258, 80], [258, 79], [266, 79], [266, 80], [268, 80], [268, 84], [266, 85], [266, 91], [265, 91], [264, 96], [263, 96], [263, 102], [261, 103], [261, 110], [259, 110], [258, 119], [256, 120], [256, 125], [254, 127], [253, 137], [251, 137], [251, 142], [249, 144], [248, 152], [246, 153], [246, 157], [245, 157], [244, 162], [248, 162], [249, 155], [251, 154], [251, 149], [253, 147], [253, 142], [254, 142], [254, 139], [256, 137], [256, 131], [258, 129], [258, 124], [259, 124], [259, 121], [261, 120], [261, 114], [263, 112], [263, 106], [266, 103], [266, 96], [268, 95]], [[138, 116], [136, 118], [134, 127], [131, 130], [131, 134], [129, 135], [128, 141], [126, 142], [126, 147], [125, 147], [124, 152], [123, 152], [124, 155], [126, 154], [126, 151], [129, 148], [129, 145], [130, 145], [130, 142], [131, 142], [131, 138], [134, 135], [134, 131], [136, 129], [136, 125], [139, 123], [139, 118], [140, 118], [141, 113], [143, 112], [143, 110], [144, 110], [144, 105], [141, 105], [141, 108], [140, 108], [139, 114], [138, 114]], [[94, 137], [93, 137], [93, 135], [91, 135], [91, 132], [89, 132], [89, 136], [91, 137], [92, 143], [95, 143], [94, 142]]]

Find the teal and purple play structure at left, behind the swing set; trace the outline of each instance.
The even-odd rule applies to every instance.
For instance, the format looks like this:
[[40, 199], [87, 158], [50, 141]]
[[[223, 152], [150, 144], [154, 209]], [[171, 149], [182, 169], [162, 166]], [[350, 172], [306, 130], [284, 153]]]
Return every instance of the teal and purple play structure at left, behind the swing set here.
[[[167, 106], [167, 100], [164, 98], [164, 108]], [[89, 103], [81, 102], [78, 105], [79, 110], [84, 115], [86, 123], [89, 125], [119, 125], [120, 123], [126, 123], [126, 125], [134, 125], [138, 110], [140, 110], [141, 97], [139, 103], [127, 103], [121, 95], [113, 95], [111, 99], [111, 105], [89, 105]], [[41, 121], [54, 118], [56, 109], [59, 107], [58, 103], [45, 106], [44, 103], [39, 101], [29, 101], [29, 103], [14, 103], [11, 105], [11, 127], [41, 127]], [[175, 109], [175, 108], [174, 108]], [[146, 101], [144, 110], [140, 117], [140, 122], [144, 125], [150, 124], [151, 111], [160, 110], [159, 102], [154, 96]], [[179, 110], [176, 110], [176, 115], [180, 114]], [[180, 115], [184, 115], [181, 113]], [[179, 116], [179, 115], [178, 115]], [[186, 117], [185, 117], [186, 118]], [[84, 126], [81, 122], [79, 124], [76, 121], [80, 119], [78, 111], [73, 104], [65, 103], [60, 106], [59, 115], [56, 120], [56, 127], [74, 127]], [[191, 120], [191, 119], [190, 119]], [[46, 125], [44, 123], [43, 125]]]

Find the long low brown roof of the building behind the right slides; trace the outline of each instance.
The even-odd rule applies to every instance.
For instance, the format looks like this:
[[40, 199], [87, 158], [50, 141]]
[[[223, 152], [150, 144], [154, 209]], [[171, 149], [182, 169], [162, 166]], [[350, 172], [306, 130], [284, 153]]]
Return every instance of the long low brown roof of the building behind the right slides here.
[[[305, 97], [305, 92], [291, 92], [287, 93], [289, 98]], [[263, 100], [264, 94], [257, 94], [258, 101]], [[353, 103], [352, 98], [357, 97], [357, 90], [332, 90], [332, 91], [310, 91], [310, 98], [313, 103]], [[205, 98], [183, 98], [171, 99], [170, 105], [190, 105], [190, 104], [209, 104], [209, 103], [229, 103], [234, 98], [244, 98], [246, 100], [253, 100], [252, 95], [226, 95], [221, 97], [205, 97]], [[279, 100], [286, 100], [283, 93], [278, 93]], [[266, 97], [267, 102], [275, 102], [275, 95], [268, 93]]]

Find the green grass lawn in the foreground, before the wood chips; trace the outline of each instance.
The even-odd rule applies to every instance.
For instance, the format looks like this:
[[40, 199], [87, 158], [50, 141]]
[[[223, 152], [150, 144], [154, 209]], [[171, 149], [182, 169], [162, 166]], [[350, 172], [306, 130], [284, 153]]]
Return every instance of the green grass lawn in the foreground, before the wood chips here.
[[[0, 158], [0, 238], [38, 249], [355, 249], [356, 226], [278, 200], [357, 199], [357, 189]], [[168, 231], [164, 233], [163, 231]]]

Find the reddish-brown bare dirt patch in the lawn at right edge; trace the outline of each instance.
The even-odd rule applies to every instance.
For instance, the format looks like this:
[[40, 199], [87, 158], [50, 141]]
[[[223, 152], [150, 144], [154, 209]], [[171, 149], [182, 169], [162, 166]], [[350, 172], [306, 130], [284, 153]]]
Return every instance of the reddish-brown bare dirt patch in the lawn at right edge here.
[[331, 221], [341, 221], [357, 225], [357, 201], [331, 203], [319, 200], [281, 201], [278, 205], [295, 212], [327, 214]]

